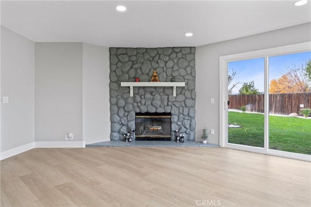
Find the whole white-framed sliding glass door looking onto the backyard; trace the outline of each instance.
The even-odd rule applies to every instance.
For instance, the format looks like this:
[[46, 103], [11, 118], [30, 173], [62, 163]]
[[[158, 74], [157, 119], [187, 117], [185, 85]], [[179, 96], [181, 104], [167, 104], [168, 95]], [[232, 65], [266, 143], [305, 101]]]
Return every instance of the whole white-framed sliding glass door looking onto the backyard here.
[[220, 91], [222, 147], [311, 161], [309, 42], [220, 57]]

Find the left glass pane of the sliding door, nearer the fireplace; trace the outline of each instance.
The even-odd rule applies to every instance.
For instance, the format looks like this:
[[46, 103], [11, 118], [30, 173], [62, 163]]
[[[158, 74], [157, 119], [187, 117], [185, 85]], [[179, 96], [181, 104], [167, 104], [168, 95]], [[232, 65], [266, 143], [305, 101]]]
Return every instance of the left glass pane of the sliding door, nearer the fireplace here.
[[228, 63], [228, 143], [264, 147], [264, 58]]

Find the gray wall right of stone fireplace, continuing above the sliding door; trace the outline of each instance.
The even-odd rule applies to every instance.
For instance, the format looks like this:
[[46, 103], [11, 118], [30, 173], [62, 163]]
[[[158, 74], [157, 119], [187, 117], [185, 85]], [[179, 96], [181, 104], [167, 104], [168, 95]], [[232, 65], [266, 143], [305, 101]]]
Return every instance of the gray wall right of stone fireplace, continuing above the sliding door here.
[[[215, 129], [208, 142], [219, 144], [219, 57], [311, 41], [311, 23], [196, 48], [196, 140], [202, 129]], [[210, 98], [215, 104], [210, 104]]]

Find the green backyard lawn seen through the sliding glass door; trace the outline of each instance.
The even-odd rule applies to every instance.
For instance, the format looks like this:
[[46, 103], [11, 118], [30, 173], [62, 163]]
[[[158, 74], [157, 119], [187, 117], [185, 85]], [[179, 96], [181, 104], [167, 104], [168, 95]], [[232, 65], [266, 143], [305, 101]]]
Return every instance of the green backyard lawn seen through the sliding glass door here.
[[[263, 147], [263, 115], [229, 112], [228, 142]], [[311, 155], [311, 119], [269, 116], [269, 148]]]

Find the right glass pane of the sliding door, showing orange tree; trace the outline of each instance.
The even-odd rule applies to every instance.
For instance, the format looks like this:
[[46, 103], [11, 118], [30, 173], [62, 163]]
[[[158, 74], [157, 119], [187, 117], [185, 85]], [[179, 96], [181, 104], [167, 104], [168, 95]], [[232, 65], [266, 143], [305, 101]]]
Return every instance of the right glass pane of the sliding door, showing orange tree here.
[[311, 155], [311, 52], [269, 57], [269, 149]]

